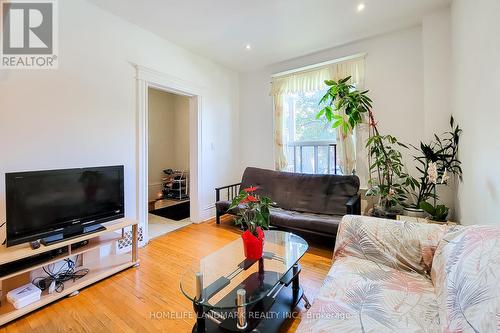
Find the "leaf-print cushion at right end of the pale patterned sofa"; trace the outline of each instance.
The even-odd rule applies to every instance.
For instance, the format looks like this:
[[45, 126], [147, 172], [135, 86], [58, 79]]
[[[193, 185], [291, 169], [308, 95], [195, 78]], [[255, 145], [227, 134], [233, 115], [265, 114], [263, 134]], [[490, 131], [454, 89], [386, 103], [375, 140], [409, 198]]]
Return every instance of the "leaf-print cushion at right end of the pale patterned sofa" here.
[[443, 332], [500, 330], [500, 230], [451, 230], [436, 249], [431, 276]]

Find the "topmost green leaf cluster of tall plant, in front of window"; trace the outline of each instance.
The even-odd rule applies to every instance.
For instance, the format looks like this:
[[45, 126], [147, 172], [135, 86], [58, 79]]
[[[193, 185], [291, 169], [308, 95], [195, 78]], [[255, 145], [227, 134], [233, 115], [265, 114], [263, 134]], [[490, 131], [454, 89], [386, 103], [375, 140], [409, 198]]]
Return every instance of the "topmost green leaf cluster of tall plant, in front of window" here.
[[354, 85], [348, 83], [350, 79], [349, 76], [338, 82], [325, 81], [330, 88], [319, 104], [326, 106], [316, 115], [317, 119], [325, 117], [329, 123], [333, 122], [333, 128], [340, 127], [346, 135], [363, 122], [363, 115], [372, 107], [372, 100], [367, 96], [368, 90], [356, 90]]

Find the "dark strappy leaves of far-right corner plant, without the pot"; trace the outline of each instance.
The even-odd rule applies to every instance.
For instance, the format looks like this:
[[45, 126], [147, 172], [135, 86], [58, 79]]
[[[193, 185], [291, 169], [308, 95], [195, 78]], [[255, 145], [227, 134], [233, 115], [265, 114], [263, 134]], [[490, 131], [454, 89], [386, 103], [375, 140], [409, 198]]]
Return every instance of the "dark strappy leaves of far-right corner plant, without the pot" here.
[[[419, 154], [413, 156], [417, 162], [417, 170], [420, 173], [418, 179], [409, 177], [409, 182], [415, 184], [409, 188], [409, 194], [414, 200], [414, 206], [420, 207], [421, 203], [434, 199], [438, 200], [436, 185], [447, 184], [447, 175], [459, 176], [462, 179], [462, 167], [458, 159], [458, 145], [462, 129], [455, 125], [453, 117], [450, 118], [451, 130], [442, 134], [443, 138], [434, 134], [434, 139], [426, 144], [420, 142], [420, 147], [412, 146]], [[429, 180], [429, 166], [436, 163], [437, 181]], [[422, 208], [423, 209], [423, 208]]]

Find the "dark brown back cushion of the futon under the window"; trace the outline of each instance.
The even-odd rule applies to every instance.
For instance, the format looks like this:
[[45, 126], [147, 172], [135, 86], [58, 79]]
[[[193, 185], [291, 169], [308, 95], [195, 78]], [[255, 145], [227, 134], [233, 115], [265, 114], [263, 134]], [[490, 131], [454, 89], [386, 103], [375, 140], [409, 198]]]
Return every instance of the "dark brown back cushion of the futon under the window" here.
[[258, 186], [257, 194], [278, 207], [297, 212], [344, 215], [346, 202], [358, 193], [357, 176], [310, 175], [246, 168], [241, 189]]

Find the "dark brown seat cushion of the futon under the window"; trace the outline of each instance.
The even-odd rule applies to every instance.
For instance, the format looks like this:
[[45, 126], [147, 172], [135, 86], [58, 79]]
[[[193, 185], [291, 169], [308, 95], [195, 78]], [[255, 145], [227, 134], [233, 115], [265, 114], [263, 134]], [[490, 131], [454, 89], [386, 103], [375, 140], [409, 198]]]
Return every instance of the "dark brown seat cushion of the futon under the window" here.
[[283, 228], [316, 231], [335, 236], [341, 216], [300, 213], [281, 208], [271, 208], [270, 225]]

